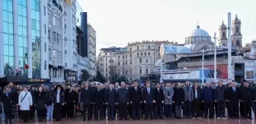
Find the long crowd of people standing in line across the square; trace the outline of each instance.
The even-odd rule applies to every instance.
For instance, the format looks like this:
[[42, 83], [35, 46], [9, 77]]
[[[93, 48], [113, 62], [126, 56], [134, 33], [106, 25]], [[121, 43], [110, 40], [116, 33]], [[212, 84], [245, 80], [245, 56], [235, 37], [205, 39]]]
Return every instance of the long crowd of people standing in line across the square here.
[[239, 86], [235, 82], [222, 83], [106, 82], [96, 85], [84, 82], [81, 86], [31, 87], [9, 82], [0, 96], [1, 113], [5, 115], [2, 120], [12, 123], [18, 114], [22, 122], [34, 119], [34, 115], [39, 122], [53, 118], [61, 121], [62, 118], [74, 119], [79, 113], [83, 121], [114, 120], [116, 116], [120, 120], [226, 119], [226, 116], [251, 119], [251, 108], [256, 112], [256, 88], [246, 81]]

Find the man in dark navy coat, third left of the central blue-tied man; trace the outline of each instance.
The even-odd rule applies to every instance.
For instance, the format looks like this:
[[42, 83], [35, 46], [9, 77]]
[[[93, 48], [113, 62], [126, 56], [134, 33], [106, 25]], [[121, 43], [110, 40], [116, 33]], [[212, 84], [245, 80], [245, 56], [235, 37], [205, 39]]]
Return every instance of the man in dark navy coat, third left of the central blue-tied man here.
[[115, 104], [117, 104], [117, 92], [114, 85], [110, 84], [105, 94], [105, 102], [107, 105], [107, 119], [114, 120], [115, 118]]

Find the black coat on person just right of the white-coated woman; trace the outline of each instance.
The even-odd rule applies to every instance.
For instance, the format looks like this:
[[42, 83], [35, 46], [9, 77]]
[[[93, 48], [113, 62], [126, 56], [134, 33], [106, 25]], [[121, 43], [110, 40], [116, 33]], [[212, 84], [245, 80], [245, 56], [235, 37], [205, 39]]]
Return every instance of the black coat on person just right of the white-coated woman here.
[[43, 110], [45, 109], [45, 105], [46, 105], [46, 93], [44, 91], [42, 91], [41, 93], [39, 91], [37, 91], [35, 93], [35, 103], [36, 103], [36, 108], [37, 110]]

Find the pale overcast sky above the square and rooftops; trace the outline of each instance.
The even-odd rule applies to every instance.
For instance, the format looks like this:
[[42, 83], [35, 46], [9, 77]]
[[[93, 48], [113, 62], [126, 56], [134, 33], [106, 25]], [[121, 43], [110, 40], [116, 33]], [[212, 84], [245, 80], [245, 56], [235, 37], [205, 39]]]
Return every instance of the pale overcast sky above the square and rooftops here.
[[197, 22], [213, 37], [227, 25], [228, 12], [242, 20], [242, 44], [256, 39], [255, 0], [78, 0], [88, 12], [101, 48], [124, 47], [128, 42], [169, 40], [184, 43]]

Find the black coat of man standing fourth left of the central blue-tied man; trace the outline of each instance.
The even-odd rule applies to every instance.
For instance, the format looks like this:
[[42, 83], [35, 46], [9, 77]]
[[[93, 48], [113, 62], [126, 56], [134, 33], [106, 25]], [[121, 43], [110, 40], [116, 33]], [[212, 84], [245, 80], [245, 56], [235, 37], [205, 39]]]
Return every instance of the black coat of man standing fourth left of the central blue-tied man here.
[[99, 91], [98, 89], [95, 89], [93, 92], [93, 103], [96, 105], [103, 105], [104, 101], [104, 89]]

